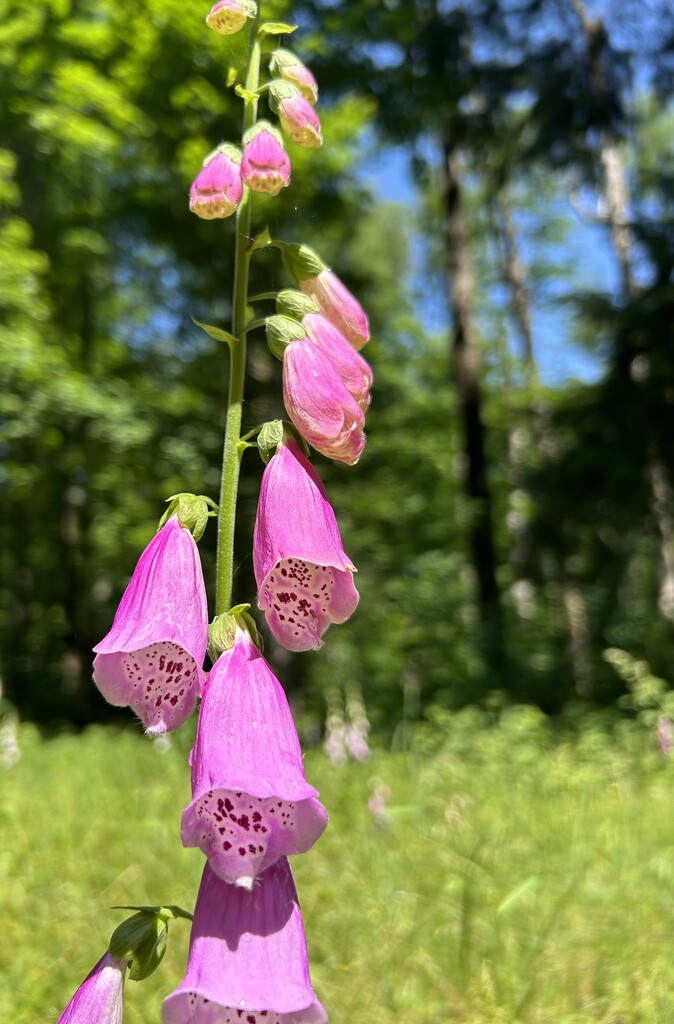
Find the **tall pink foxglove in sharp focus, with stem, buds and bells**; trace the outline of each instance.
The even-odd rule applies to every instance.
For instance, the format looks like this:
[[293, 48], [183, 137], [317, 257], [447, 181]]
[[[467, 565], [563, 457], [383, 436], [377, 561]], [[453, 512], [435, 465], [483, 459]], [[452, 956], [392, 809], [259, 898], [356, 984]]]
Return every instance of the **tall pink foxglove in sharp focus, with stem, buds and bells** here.
[[[164, 1024], [325, 1024], [287, 857], [313, 846], [328, 815], [304, 774], [288, 700], [262, 655], [250, 605], [233, 606], [234, 535], [241, 460], [257, 447], [266, 467], [253, 565], [258, 606], [275, 640], [290, 651], [317, 649], [329, 626], [355, 610], [355, 566], [308, 446], [345, 463], [363, 452], [372, 373], [355, 349], [369, 328], [360, 303], [312, 250], [272, 240], [267, 228], [253, 232], [255, 194], [266, 204], [290, 183], [282, 132], [310, 148], [323, 142], [313, 110], [318, 85], [302, 61], [278, 49], [264, 80], [264, 41], [293, 28], [263, 23], [253, 0], [219, 0], [206, 20], [222, 36], [248, 32], [245, 80], [236, 82], [235, 69], [230, 82], [244, 104], [241, 138], [221, 142], [189, 189], [197, 216], [236, 214], [231, 328], [199, 325], [224, 341], [230, 356], [219, 503], [203, 495], [169, 499], [112, 628], [94, 648], [93, 678], [103, 696], [130, 707], [150, 734], [177, 728], [201, 697], [192, 799], [180, 835], [185, 846], [202, 851], [206, 865], [186, 974], [164, 1000]], [[281, 131], [258, 118], [262, 100], [269, 118], [278, 115]], [[299, 291], [249, 296], [251, 259], [267, 248], [281, 254]], [[269, 299], [278, 299], [278, 311], [251, 318], [250, 308]], [[242, 436], [248, 337], [261, 327], [284, 360], [292, 423], [272, 421]], [[198, 542], [211, 517], [217, 518], [217, 561], [209, 626]], [[121, 1024], [125, 975], [142, 980], [152, 974], [169, 921], [192, 919], [168, 904], [130, 909], [135, 912], [115, 930], [59, 1024]]]

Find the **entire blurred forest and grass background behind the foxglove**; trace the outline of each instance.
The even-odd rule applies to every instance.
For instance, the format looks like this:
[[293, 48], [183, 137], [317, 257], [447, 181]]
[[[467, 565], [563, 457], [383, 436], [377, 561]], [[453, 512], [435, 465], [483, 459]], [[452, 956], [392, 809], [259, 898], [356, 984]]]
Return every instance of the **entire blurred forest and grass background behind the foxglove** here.
[[[56, 1020], [108, 907], [191, 906], [202, 868], [192, 727], [141, 737], [91, 647], [165, 499], [217, 497], [226, 350], [191, 317], [228, 327], [233, 222], [187, 190], [239, 136], [244, 54], [209, 6], [0, 0], [12, 1024]], [[267, 645], [331, 814], [294, 864], [320, 997], [333, 1024], [674, 1020], [674, 10], [264, 15], [300, 26], [326, 145], [289, 145], [255, 223], [313, 246], [373, 335], [365, 454], [315, 458], [361, 605], [319, 654]], [[288, 284], [256, 255], [253, 291]], [[244, 429], [283, 415], [279, 376], [253, 336]], [[261, 471], [248, 453], [237, 601]], [[200, 549], [210, 586], [212, 525]], [[158, 1020], [185, 948], [177, 923], [125, 1021]]]

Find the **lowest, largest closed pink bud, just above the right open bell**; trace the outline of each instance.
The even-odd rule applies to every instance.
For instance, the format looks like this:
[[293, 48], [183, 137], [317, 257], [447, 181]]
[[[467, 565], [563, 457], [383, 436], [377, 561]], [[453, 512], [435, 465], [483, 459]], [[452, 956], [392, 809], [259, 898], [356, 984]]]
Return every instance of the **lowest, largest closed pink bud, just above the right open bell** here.
[[352, 466], [365, 447], [365, 416], [323, 350], [309, 338], [291, 341], [283, 356], [288, 416], [317, 452]]

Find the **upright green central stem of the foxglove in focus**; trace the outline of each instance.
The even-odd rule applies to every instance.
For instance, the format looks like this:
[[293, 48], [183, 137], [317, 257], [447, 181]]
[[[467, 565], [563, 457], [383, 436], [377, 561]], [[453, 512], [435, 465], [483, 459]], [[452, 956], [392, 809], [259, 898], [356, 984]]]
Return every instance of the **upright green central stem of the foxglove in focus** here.
[[[251, 22], [248, 37], [248, 71], [246, 89], [257, 91], [260, 77], [260, 37], [258, 13]], [[257, 119], [257, 99], [246, 100], [244, 105], [244, 132]], [[246, 309], [248, 306], [248, 269], [250, 253], [248, 245], [251, 228], [250, 189], [244, 186], [244, 195], [237, 211], [237, 233], [235, 247], [234, 304], [231, 312], [231, 333], [236, 342], [230, 345], [229, 356], [229, 398], [222, 452], [222, 479], [220, 482], [220, 513], [217, 529], [217, 566], [215, 580], [215, 614], [220, 615], [231, 607], [234, 578], [234, 531], [237, 518], [237, 498], [239, 494], [239, 470], [241, 457], [245, 451], [241, 443], [241, 420], [246, 380]]]

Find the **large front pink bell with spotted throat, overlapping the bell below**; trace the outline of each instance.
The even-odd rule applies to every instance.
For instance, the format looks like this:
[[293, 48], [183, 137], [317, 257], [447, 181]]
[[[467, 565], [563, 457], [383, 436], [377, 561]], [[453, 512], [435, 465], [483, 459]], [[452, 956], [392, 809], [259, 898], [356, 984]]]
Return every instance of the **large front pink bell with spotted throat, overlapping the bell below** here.
[[184, 846], [198, 846], [216, 874], [244, 888], [284, 854], [305, 853], [328, 823], [304, 776], [284, 689], [240, 627], [208, 677], [192, 793]]

